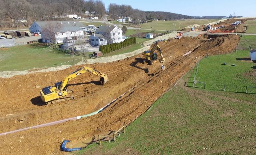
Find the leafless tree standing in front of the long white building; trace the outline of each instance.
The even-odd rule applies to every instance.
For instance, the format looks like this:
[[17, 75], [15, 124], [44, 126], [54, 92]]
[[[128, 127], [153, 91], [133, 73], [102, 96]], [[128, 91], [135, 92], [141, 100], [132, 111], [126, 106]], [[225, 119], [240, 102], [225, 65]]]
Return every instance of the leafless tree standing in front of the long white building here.
[[42, 38], [50, 40], [50, 42], [54, 42], [55, 46], [57, 44], [56, 38], [62, 29], [62, 25], [58, 22], [48, 22], [45, 27], [42, 28]]

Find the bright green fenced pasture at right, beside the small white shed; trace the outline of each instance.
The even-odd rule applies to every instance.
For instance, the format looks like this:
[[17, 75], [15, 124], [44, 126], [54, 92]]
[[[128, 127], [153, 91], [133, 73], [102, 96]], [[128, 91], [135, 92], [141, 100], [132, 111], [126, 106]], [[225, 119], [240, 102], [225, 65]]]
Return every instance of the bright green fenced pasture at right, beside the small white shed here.
[[[224, 65], [226, 63], [226, 65]], [[206, 89], [224, 90], [228, 92], [245, 93], [246, 86], [256, 87], [256, 63], [249, 59], [249, 51], [236, 51], [236, 53], [209, 56], [200, 60], [190, 76], [188, 86], [195, 81], [205, 82]], [[254, 75], [254, 76], [250, 76]], [[203, 88], [204, 84], [195, 83], [195, 87]], [[256, 93], [256, 88], [250, 88], [250, 93]]]

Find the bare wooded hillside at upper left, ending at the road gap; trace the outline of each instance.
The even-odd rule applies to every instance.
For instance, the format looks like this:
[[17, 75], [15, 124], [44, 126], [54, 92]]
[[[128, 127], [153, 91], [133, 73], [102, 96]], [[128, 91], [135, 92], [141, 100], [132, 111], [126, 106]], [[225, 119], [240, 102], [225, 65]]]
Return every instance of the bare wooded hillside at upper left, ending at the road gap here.
[[106, 13], [102, 0], [0, 0], [0, 28], [29, 26], [30, 21], [68, 20], [63, 19], [65, 14], [85, 11], [99, 18]]

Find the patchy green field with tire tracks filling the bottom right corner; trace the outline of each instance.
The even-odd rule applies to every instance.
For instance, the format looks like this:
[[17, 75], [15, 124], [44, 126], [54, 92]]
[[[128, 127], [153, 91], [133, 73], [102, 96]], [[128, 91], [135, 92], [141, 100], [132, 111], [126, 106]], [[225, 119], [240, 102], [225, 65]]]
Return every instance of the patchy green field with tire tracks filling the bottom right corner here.
[[254, 94], [209, 92], [182, 83], [127, 126], [116, 143], [93, 143], [77, 154], [255, 153], [255, 101]]

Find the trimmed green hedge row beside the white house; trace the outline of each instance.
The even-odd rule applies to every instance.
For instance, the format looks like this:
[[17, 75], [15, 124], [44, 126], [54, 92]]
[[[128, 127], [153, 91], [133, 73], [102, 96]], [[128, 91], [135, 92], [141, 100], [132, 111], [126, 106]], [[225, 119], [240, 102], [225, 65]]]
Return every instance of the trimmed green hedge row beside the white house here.
[[102, 46], [100, 46], [100, 51], [102, 52], [102, 54], [107, 54], [107, 53], [113, 52], [115, 50], [130, 46], [135, 43], [136, 43], [136, 37], [131, 37], [131, 38], [125, 39], [124, 41], [119, 42], [119, 43], [102, 45]]

